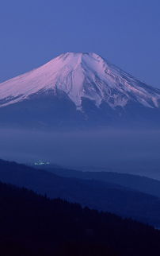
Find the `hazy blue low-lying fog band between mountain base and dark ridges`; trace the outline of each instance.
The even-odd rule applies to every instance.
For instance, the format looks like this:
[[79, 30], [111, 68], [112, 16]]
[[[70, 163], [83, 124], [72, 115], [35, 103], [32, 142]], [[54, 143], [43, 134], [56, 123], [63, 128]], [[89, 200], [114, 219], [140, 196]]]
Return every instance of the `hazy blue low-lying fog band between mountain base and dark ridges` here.
[[0, 158], [39, 159], [77, 169], [135, 173], [160, 180], [160, 130], [31, 132], [0, 130]]

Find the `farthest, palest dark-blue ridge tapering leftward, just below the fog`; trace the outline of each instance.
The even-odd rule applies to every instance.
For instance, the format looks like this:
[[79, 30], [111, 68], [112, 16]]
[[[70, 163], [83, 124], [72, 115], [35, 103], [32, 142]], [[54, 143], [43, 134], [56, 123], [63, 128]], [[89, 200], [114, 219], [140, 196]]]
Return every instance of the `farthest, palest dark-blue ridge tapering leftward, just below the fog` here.
[[146, 176], [132, 175], [128, 173], [114, 172], [82, 172], [73, 169], [63, 169], [59, 167], [41, 166], [40, 169], [45, 169], [51, 173], [55, 173], [64, 177], [75, 177], [85, 180], [100, 180], [120, 186], [138, 190], [139, 192], [147, 193], [153, 196], [160, 197], [160, 180], [154, 180]]

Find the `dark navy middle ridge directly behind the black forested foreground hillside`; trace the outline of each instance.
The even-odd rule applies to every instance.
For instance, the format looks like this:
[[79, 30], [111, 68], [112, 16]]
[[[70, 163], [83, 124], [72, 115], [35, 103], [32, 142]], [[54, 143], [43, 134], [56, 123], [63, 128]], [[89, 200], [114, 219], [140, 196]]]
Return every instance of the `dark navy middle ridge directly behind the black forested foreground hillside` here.
[[0, 161], [0, 180], [160, 227], [160, 199], [117, 184], [60, 177], [7, 161]]

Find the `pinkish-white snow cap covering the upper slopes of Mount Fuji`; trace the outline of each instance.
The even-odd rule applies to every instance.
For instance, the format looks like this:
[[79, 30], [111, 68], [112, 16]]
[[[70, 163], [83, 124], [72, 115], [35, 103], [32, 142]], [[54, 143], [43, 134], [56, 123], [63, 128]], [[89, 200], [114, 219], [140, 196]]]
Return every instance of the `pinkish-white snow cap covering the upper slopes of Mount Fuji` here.
[[102, 102], [113, 109], [129, 102], [144, 107], [160, 106], [160, 90], [135, 80], [95, 53], [67, 52], [24, 75], [0, 83], [0, 107], [41, 95], [46, 91], [65, 92], [82, 110], [82, 99]]

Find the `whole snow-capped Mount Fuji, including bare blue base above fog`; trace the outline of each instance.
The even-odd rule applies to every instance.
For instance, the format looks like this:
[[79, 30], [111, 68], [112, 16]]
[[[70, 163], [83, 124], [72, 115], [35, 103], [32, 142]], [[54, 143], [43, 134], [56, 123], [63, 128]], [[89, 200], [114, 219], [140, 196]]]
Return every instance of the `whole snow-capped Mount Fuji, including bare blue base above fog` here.
[[95, 53], [67, 52], [0, 83], [0, 125], [160, 127], [160, 89]]

